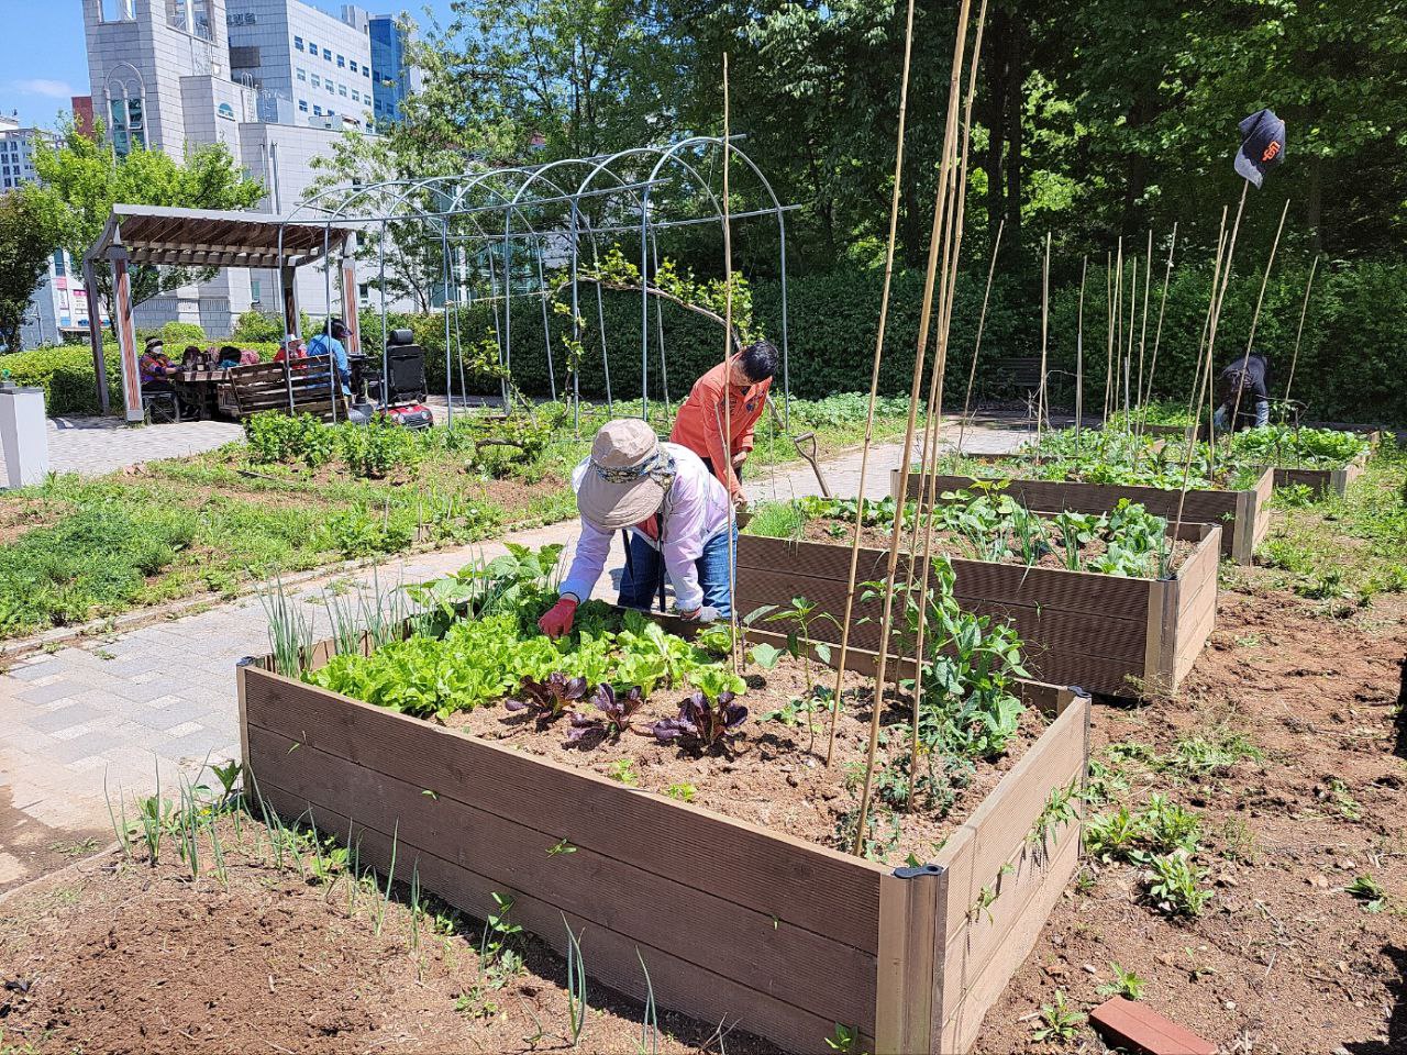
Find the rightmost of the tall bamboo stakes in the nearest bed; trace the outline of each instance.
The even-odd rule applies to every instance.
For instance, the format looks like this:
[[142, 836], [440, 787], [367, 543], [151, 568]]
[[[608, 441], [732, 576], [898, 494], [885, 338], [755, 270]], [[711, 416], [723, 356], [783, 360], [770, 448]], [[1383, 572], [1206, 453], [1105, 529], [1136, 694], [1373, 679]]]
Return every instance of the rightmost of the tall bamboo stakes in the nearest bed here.
[[[913, 795], [917, 786], [919, 774], [919, 705], [923, 699], [923, 644], [924, 633], [927, 630], [927, 584], [929, 577], [933, 571], [933, 509], [937, 505], [937, 452], [938, 439], [943, 433], [943, 380], [947, 373], [948, 360], [948, 333], [953, 326], [953, 300], [957, 290], [958, 279], [958, 256], [962, 250], [962, 219], [967, 214], [967, 166], [968, 166], [968, 148], [972, 141], [972, 96], [976, 89], [976, 75], [978, 75], [978, 58], [982, 53], [982, 31], [986, 27], [986, 0], [982, 0], [982, 7], [978, 11], [976, 20], [976, 37], [972, 42], [972, 68], [968, 73], [968, 90], [967, 101], [964, 103], [964, 118], [962, 118], [962, 160], [958, 165], [957, 173], [950, 177], [950, 205], [948, 212], [953, 217], [950, 224], [951, 232], [951, 246], [944, 245], [944, 271], [943, 271], [943, 286], [938, 290], [938, 343], [937, 354], [933, 363], [933, 374], [929, 383], [929, 407], [927, 407], [927, 423], [924, 426], [924, 460], [920, 466], [919, 475], [919, 511], [915, 518], [915, 525], [924, 523], [924, 539], [923, 539], [923, 571], [919, 578], [919, 625], [915, 632], [913, 640], [913, 713], [910, 724], [910, 754], [909, 754], [909, 795], [905, 802], [905, 809], [913, 812]], [[931, 437], [931, 445], [930, 445]], [[927, 450], [931, 446], [933, 460], [930, 463]], [[924, 475], [927, 474], [927, 494], [924, 494]], [[908, 581], [905, 584], [905, 596], [913, 596], [913, 565], [915, 553], [910, 551], [909, 557], [909, 573]], [[895, 689], [899, 688], [899, 671], [902, 664], [895, 665]]]

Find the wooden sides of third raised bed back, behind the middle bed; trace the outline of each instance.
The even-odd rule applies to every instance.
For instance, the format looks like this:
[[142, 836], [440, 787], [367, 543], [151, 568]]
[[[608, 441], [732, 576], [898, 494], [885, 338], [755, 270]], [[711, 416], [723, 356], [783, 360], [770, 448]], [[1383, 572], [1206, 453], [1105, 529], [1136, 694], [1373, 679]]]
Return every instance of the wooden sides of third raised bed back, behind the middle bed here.
[[[889, 492], [898, 495], [899, 470], [891, 470]], [[978, 481], [974, 477], [940, 475], [937, 490], [971, 491]], [[1249, 564], [1255, 547], [1271, 530], [1271, 494], [1275, 491], [1275, 470], [1266, 468], [1245, 491], [1188, 491], [1182, 506], [1182, 522], [1216, 523], [1221, 526], [1221, 553], [1237, 564]], [[1155, 516], [1168, 520], [1178, 519], [1178, 491], [1161, 487], [1128, 487], [1123, 484], [1081, 484], [1062, 480], [1010, 478], [1002, 494], [1007, 494], [1029, 509], [1038, 512], [1106, 513], [1119, 505], [1120, 498], [1140, 502]], [[919, 497], [919, 473], [909, 473], [909, 498]], [[941, 499], [940, 499], [941, 501]]]

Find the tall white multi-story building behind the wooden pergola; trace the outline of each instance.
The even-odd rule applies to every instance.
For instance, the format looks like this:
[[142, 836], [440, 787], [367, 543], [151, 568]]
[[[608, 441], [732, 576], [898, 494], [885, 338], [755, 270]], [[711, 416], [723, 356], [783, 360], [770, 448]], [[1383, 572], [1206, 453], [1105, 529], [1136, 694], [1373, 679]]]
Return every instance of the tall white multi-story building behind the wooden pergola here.
[[[83, 0], [83, 17], [93, 110], [113, 149], [179, 158], [225, 143], [263, 183], [270, 212], [291, 212], [317, 176], [311, 159], [373, 111], [373, 18], [357, 7], [338, 18], [301, 0]], [[303, 270], [298, 302], [322, 315], [324, 276]], [[222, 271], [135, 315], [138, 326], [179, 319], [222, 336], [249, 308], [277, 311], [272, 271]]]

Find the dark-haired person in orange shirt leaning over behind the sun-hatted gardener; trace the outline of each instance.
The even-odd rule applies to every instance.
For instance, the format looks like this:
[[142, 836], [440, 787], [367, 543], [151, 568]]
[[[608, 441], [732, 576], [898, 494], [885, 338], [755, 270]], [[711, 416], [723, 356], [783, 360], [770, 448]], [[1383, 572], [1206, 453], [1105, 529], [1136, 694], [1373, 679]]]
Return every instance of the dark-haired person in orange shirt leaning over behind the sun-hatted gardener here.
[[[733, 504], [743, 506], [743, 463], [753, 453], [753, 429], [767, 409], [767, 394], [777, 373], [777, 346], [756, 340], [719, 363], [694, 383], [689, 397], [680, 404], [670, 432], [670, 443], [688, 447], [718, 481], [727, 488]], [[723, 399], [729, 401], [725, 408]], [[730, 435], [725, 439], [723, 432]]]

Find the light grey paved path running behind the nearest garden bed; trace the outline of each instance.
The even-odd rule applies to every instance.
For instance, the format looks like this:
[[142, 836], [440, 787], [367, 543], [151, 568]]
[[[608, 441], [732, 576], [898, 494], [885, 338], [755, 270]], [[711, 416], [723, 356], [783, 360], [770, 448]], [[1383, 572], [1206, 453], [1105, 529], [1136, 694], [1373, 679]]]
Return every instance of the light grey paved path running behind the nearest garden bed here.
[[[208, 425], [203, 422], [201, 425]], [[163, 429], [183, 426], [162, 426]], [[153, 429], [135, 430], [142, 436]], [[971, 433], [969, 433], [971, 435]], [[969, 450], [1006, 450], [1024, 437], [1014, 430], [978, 430]], [[865, 491], [889, 491], [889, 470], [899, 464], [899, 443], [875, 445]], [[860, 456], [823, 466], [836, 495], [854, 495]], [[806, 466], [765, 470], [749, 481], [756, 501], [819, 494]], [[522, 532], [523, 546], [577, 537], [575, 522]], [[442, 550], [388, 560], [378, 571], [386, 589], [456, 571], [474, 556], [505, 553], [502, 543]], [[613, 598], [620, 550], [612, 547], [609, 575], [598, 595]], [[290, 588], [305, 605], [317, 639], [331, 636], [324, 589], [338, 578], [339, 589], [370, 592], [371, 575], [328, 577]], [[238, 753], [235, 661], [270, 650], [267, 619], [257, 598], [245, 598], [204, 612], [159, 622], [108, 639], [84, 639], [52, 654], [18, 660], [0, 677], [0, 890], [55, 864], [53, 848], [93, 837], [113, 838], [108, 806], [151, 793], [160, 779], [174, 789], [179, 775], [193, 778], [208, 761]]]

